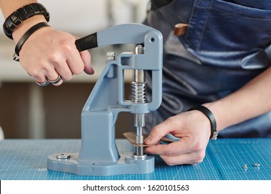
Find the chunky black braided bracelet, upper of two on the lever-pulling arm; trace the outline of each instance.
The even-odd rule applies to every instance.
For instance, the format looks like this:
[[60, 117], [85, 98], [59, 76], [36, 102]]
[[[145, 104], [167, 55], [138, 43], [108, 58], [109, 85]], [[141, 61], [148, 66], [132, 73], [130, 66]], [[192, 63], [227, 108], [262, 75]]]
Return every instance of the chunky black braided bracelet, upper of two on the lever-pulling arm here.
[[3, 31], [7, 37], [13, 39], [13, 30], [19, 26], [24, 20], [33, 17], [34, 15], [44, 15], [47, 22], [50, 19], [49, 12], [46, 10], [41, 3], [31, 3], [17, 9], [15, 12], [10, 14], [3, 23]]

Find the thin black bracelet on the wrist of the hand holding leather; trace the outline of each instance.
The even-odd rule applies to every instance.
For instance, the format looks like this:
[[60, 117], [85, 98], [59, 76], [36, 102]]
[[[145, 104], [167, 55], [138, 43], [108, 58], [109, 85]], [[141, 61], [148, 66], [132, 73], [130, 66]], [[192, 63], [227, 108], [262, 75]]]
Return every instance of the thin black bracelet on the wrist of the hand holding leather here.
[[216, 121], [215, 121], [215, 116], [213, 115], [213, 113], [211, 112], [211, 110], [209, 110], [208, 108], [200, 105], [198, 107], [192, 107], [190, 110], [198, 110], [200, 112], [202, 112], [205, 116], [207, 116], [207, 118], [209, 119], [210, 123], [211, 123], [211, 136], [210, 138], [213, 140], [217, 139], [217, 135], [218, 135], [218, 131], [216, 130]]

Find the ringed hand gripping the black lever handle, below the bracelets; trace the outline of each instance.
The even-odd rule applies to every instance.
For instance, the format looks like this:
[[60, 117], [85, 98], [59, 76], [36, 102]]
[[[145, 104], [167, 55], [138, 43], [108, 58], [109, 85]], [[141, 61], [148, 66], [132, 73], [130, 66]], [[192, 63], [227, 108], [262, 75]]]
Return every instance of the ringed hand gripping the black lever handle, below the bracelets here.
[[93, 74], [90, 53], [79, 53], [75, 40], [69, 33], [41, 28], [26, 40], [19, 52], [19, 61], [37, 82], [54, 81], [61, 76], [62, 80], [55, 84], [61, 85], [63, 80], [71, 80], [83, 71]]

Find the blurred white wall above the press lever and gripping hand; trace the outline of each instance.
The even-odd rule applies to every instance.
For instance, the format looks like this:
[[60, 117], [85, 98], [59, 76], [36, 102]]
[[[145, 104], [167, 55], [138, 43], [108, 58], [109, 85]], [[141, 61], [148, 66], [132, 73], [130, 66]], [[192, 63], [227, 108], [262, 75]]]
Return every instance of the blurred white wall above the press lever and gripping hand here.
[[[85, 34], [109, 25], [142, 22], [149, 0], [40, 0], [51, 19], [50, 25], [70, 33]], [[111, 18], [108, 18], [111, 17]], [[0, 24], [3, 24], [0, 17]], [[0, 28], [0, 34], [3, 29]]]

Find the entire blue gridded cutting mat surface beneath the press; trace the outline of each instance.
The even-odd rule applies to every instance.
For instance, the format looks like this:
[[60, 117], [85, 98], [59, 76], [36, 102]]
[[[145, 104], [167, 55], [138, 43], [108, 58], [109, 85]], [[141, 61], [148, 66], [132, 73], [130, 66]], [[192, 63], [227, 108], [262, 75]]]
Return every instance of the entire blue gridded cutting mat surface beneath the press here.
[[[79, 139], [0, 141], [0, 179], [16, 180], [219, 180], [271, 179], [271, 139], [219, 139], [210, 141], [201, 164], [167, 166], [156, 156], [154, 173], [145, 175], [79, 176], [47, 170], [47, 157], [79, 152]], [[117, 140], [120, 153], [134, 150], [127, 140]], [[254, 162], [259, 168], [251, 166]], [[243, 165], [247, 164], [245, 170]], [[222, 174], [222, 176], [220, 175]]]

